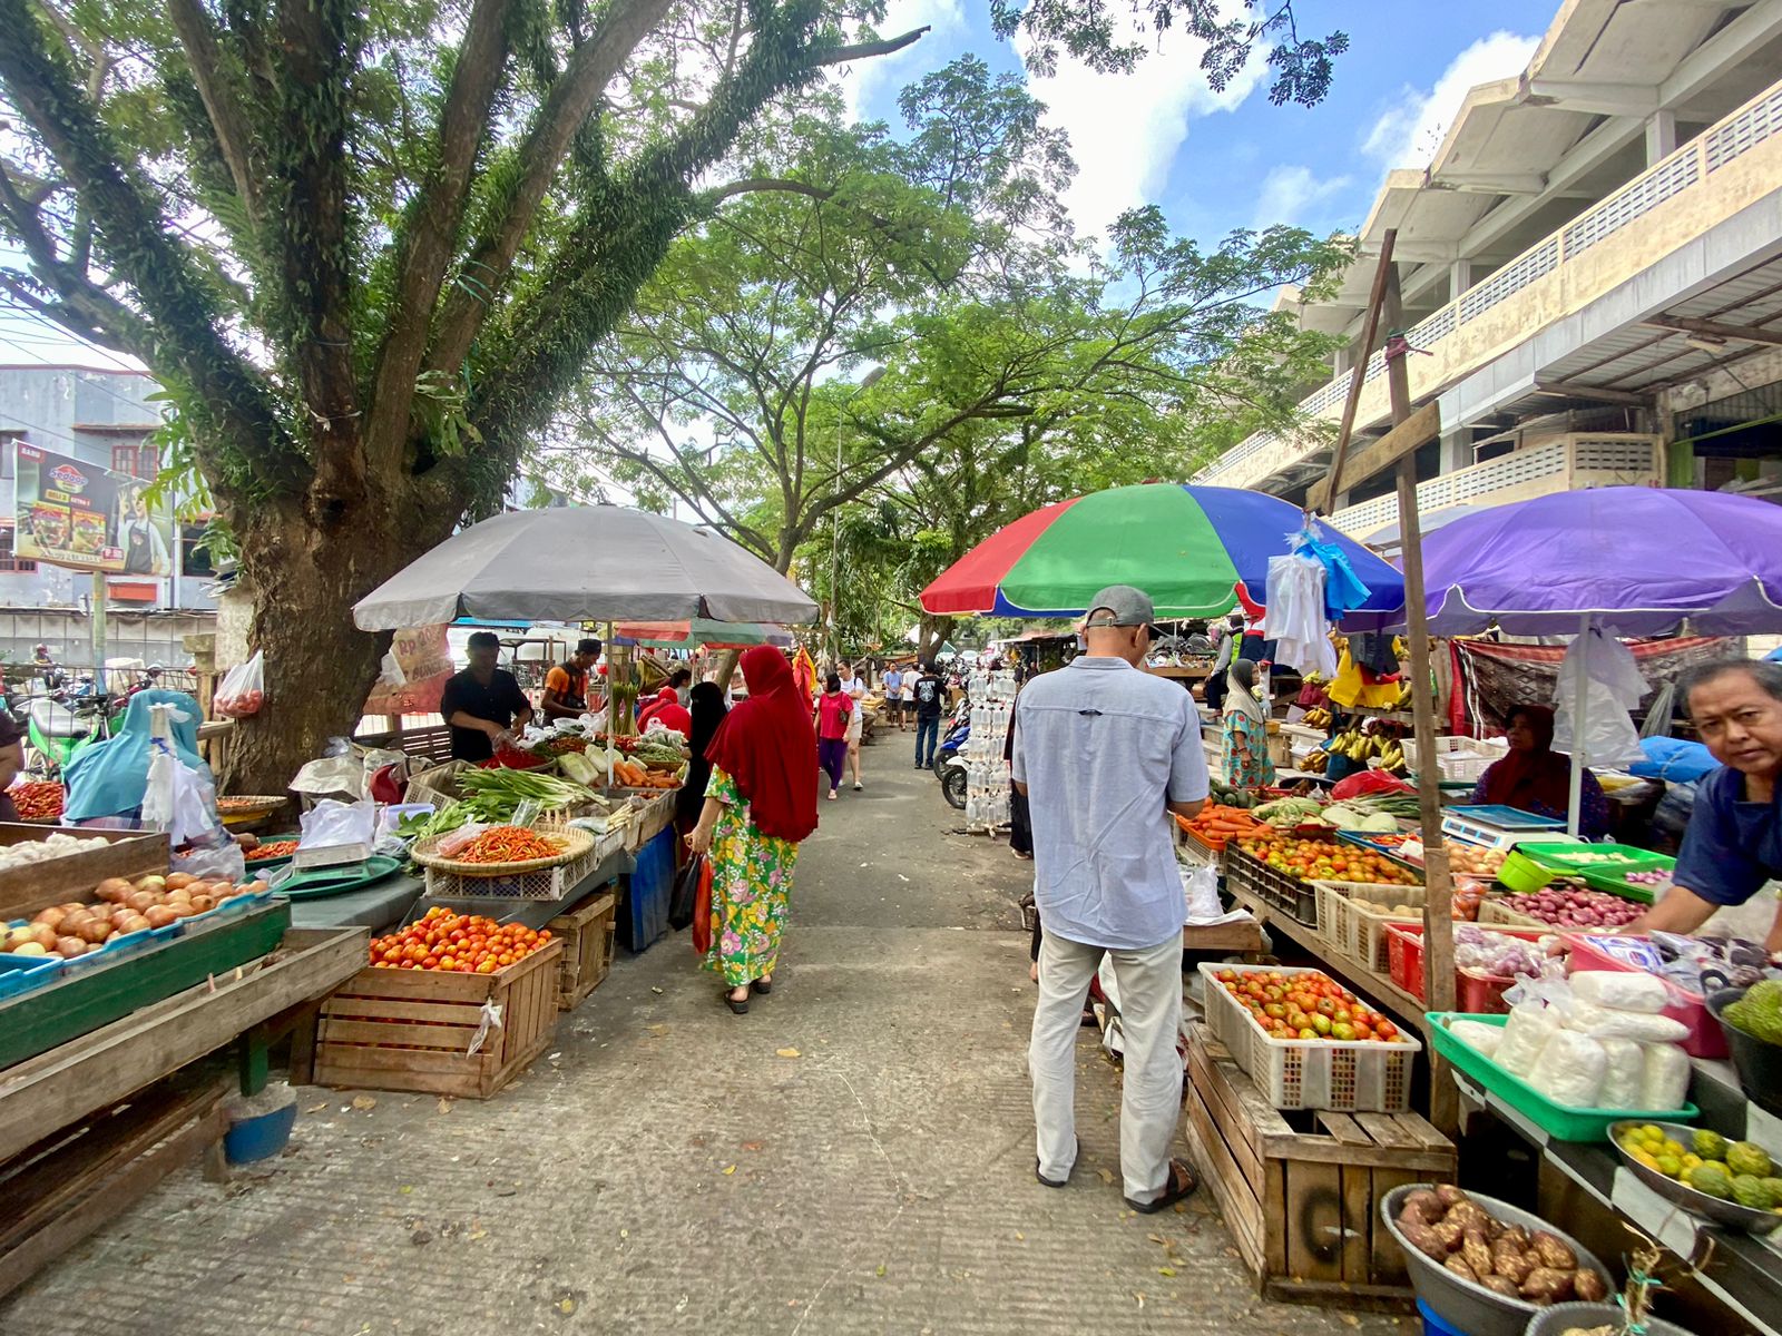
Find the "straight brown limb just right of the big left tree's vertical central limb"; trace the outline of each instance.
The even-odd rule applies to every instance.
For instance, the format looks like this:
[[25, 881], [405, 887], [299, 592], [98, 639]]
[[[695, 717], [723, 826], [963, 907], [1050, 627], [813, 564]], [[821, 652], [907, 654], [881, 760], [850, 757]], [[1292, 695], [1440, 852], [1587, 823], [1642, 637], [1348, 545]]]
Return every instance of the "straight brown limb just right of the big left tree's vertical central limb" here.
[[396, 301], [378, 353], [365, 420], [367, 468], [385, 485], [394, 483], [406, 454], [415, 378], [426, 358], [433, 306], [463, 228], [470, 173], [508, 62], [510, 7], [510, 0], [476, 0], [470, 11], [440, 114], [438, 162], [410, 205], [408, 226], [397, 240]]

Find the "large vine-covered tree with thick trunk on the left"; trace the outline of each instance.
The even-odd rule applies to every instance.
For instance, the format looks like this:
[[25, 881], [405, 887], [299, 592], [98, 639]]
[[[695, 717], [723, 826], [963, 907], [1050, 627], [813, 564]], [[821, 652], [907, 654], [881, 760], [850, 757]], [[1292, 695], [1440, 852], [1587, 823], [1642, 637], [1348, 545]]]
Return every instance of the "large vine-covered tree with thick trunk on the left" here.
[[241, 782], [285, 787], [380, 652], [347, 607], [497, 504], [695, 182], [852, 0], [0, 0], [0, 290], [141, 358], [257, 595]]

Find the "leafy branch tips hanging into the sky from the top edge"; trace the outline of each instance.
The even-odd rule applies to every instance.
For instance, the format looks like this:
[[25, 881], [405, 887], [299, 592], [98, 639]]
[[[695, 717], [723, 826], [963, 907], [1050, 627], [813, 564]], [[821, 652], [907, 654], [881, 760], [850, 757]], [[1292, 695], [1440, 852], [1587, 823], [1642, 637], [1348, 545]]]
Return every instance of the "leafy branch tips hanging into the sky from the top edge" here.
[[[1233, 12], [1237, 11], [1237, 12]], [[1123, 37], [1119, 16], [1140, 34], [1162, 37], [1180, 29], [1203, 43], [1201, 71], [1212, 89], [1226, 84], [1249, 64], [1256, 50], [1267, 52], [1272, 73], [1269, 102], [1281, 107], [1324, 102], [1333, 59], [1349, 50], [1345, 32], [1301, 37], [1294, 0], [991, 0], [991, 27], [1001, 37], [1025, 37], [1032, 69], [1050, 71], [1067, 53], [1092, 69], [1132, 69], [1146, 45]]]

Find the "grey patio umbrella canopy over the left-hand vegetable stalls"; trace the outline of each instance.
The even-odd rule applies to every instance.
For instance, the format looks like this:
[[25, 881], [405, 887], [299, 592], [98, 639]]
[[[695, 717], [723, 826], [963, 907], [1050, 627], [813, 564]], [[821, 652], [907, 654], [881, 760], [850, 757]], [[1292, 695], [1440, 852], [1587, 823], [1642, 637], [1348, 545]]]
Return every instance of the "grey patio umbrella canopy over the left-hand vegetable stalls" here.
[[558, 506], [472, 524], [353, 606], [360, 631], [460, 616], [798, 623], [816, 604], [707, 529], [624, 506]]

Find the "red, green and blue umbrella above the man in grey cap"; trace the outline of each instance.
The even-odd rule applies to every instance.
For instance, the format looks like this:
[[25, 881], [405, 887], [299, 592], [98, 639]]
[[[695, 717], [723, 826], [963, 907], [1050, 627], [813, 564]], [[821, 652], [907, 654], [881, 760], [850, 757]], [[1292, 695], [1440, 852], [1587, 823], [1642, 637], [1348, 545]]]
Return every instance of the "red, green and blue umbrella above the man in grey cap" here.
[[[1292, 550], [1304, 513], [1279, 497], [1228, 486], [1144, 483], [1060, 501], [998, 529], [921, 591], [936, 615], [1078, 616], [1108, 584], [1151, 595], [1158, 618], [1217, 616], [1235, 590], [1263, 602], [1269, 558]], [[1320, 525], [1369, 595], [1345, 618], [1365, 629], [1404, 607], [1404, 577]]]

